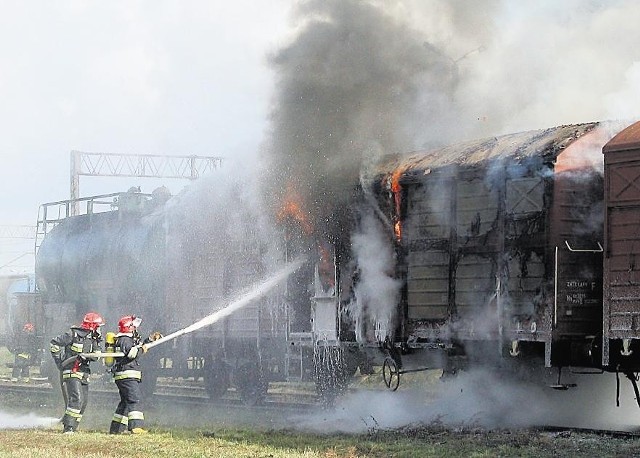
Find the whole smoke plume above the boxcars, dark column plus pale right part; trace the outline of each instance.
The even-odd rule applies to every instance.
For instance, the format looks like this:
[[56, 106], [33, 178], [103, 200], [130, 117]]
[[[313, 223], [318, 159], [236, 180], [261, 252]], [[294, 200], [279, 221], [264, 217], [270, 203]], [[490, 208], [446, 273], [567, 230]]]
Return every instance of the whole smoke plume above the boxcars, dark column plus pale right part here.
[[[380, 154], [640, 113], [630, 0], [306, 0], [270, 56], [264, 184], [316, 223]], [[622, 37], [622, 38], [620, 38]]]

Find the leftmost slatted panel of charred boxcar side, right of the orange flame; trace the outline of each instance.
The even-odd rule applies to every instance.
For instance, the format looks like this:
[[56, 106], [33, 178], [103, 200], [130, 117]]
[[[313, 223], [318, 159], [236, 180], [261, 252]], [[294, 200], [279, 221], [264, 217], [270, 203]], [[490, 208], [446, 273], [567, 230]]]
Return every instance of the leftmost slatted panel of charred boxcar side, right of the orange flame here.
[[449, 316], [451, 178], [432, 173], [407, 189], [403, 245], [407, 253], [407, 317], [442, 321]]

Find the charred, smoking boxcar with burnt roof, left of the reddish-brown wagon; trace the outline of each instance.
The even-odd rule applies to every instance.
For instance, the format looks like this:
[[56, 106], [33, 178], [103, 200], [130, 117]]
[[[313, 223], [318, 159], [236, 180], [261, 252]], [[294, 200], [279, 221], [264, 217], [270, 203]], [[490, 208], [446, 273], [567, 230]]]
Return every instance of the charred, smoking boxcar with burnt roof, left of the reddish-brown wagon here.
[[456, 361], [514, 358], [593, 364], [586, 359], [601, 329], [602, 175], [575, 167], [571, 156], [594, 135], [596, 124], [563, 126], [392, 165], [400, 173], [391, 174], [388, 211], [406, 286], [394, 348], [437, 344], [450, 370]]

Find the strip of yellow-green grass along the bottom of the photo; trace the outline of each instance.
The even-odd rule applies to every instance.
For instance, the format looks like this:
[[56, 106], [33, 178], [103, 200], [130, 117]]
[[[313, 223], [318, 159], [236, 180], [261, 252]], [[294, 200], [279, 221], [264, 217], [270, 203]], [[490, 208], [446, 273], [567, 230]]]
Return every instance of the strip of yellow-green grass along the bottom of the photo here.
[[[614, 457], [638, 456], [637, 440], [598, 436], [554, 437], [514, 432], [421, 431], [368, 435], [316, 435], [278, 430], [155, 429], [145, 436], [110, 436], [84, 431], [0, 431], [2, 457], [221, 457], [221, 458], [383, 458], [383, 457]], [[634, 455], [635, 453], [635, 455]]]

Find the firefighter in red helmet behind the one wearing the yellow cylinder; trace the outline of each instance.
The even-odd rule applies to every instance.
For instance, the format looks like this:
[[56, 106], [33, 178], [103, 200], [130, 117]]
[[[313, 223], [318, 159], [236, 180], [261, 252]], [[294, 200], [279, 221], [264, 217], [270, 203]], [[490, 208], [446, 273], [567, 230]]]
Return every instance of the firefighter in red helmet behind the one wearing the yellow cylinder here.
[[65, 396], [65, 411], [62, 424], [65, 433], [78, 429], [89, 400], [89, 363], [97, 358], [87, 358], [84, 353], [100, 351], [104, 326], [102, 317], [89, 312], [79, 326], [72, 326], [64, 334], [51, 339], [51, 356], [60, 369], [62, 390]]

